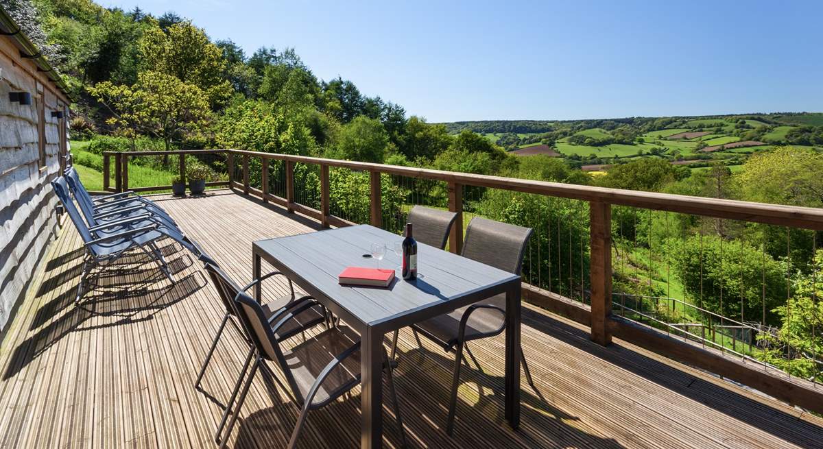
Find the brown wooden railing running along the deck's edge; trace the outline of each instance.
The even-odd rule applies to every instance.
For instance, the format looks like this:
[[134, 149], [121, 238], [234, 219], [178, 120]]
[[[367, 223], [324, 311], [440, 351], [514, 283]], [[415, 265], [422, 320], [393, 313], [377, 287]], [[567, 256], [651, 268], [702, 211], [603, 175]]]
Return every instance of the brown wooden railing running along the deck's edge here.
[[[622, 319], [611, 313], [611, 207], [632, 206], [653, 211], [670, 211], [689, 215], [700, 215], [718, 219], [742, 220], [747, 222], [777, 224], [781, 226], [823, 230], [823, 210], [755, 203], [747, 201], [720, 200], [705, 197], [687, 197], [656, 192], [636, 192], [605, 187], [579, 186], [565, 183], [551, 183], [519, 178], [503, 178], [479, 174], [465, 174], [433, 169], [419, 169], [386, 164], [371, 164], [347, 160], [331, 160], [300, 155], [279, 155], [247, 150], [188, 150], [164, 153], [138, 152], [104, 154], [104, 158], [115, 156], [116, 187], [121, 191], [128, 188], [128, 169], [125, 161], [131, 155], [160, 154], [226, 154], [228, 167], [227, 184], [232, 189], [246, 195], [259, 197], [262, 201], [277, 203], [289, 212], [299, 212], [319, 220], [324, 227], [346, 226], [354, 224], [349, 220], [332, 215], [330, 211], [330, 168], [346, 168], [370, 174], [370, 224], [380, 226], [381, 214], [381, 174], [393, 174], [409, 178], [420, 178], [446, 183], [448, 187], [449, 211], [458, 212], [457, 222], [452, 227], [449, 238], [449, 250], [460, 252], [463, 242], [463, 188], [488, 187], [514, 192], [527, 192], [547, 197], [567, 198], [588, 203], [590, 241], [589, 241], [589, 282], [590, 306], [571, 301], [560, 294], [555, 294], [533, 285], [523, 284], [523, 299], [542, 308], [570, 317], [591, 328], [591, 338], [601, 345], [611, 343], [612, 336], [618, 336], [635, 345], [643, 346], [658, 354], [666, 355], [681, 363], [704, 368], [722, 377], [728, 377], [770, 396], [802, 406], [808, 410], [823, 413], [823, 387], [811, 382], [788, 377], [777, 371], [764, 371], [745, 363], [745, 360], [724, 357], [719, 351], [701, 348], [689, 341], [668, 336], [647, 326]], [[285, 164], [285, 197], [269, 192], [269, 164], [262, 164], [261, 188], [249, 183], [249, 161], [280, 160]], [[184, 158], [181, 158], [183, 160]], [[319, 166], [320, 209], [300, 204], [295, 201], [295, 164]], [[104, 164], [107, 167], [107, 164]], [[235, 167], [241, 167], [240, 176], [235, 177]], [[180, 167], [184, 176], [184, 167]], [[107, 171], [104, 178], [107, 178]], [[108, 186], [107, 186], [108, 187]], [[157, 190], [170, 187], [142, 187], [140, 190]]]

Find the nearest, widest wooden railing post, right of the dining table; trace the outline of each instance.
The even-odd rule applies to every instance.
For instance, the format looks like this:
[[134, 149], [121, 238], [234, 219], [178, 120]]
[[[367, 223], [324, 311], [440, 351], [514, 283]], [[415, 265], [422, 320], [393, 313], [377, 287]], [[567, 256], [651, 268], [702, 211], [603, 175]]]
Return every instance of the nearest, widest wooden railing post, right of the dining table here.
[[608, 345], [611, 343], [608, 326], [611, 315], [611, 205], [591, 201], [588, 208], [591, 217], [592, 340], [599, 345]]

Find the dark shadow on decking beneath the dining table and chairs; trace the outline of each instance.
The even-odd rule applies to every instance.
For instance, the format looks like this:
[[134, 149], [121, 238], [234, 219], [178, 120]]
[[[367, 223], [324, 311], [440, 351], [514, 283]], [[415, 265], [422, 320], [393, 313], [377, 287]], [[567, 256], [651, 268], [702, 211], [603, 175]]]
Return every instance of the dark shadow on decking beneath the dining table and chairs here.
[[[401, 413], [408, 447], [622, 447], [611, 438], [587, 433], [579, 421], [549, 404], [539, 392], [523, 389], [521, 429], [511, 430], [503, 417], [504, 378], [463, 367], [463, 383], [477, 382], [483, 391], [475, 405], [458, 400], [458, 418], [453, 437], [445, 433], [451, 387], [451, 373], [442, 367], [453, 359], [427, 349], [411, 349], [399, 354], [395, 370]], [[422, 387], [422, 388], [421, 388]], [[472, 387], [473, 388], [473, 387]], [[384, 446], [400, 447], [397, 419], [390, 407], [390, 392], [384, 382]], [[294, 402], [277, 401], [267, 408], [241, 412], [234, 447], [281, 447], [288, 442], [300, 412]], [[434, 428], [432, 426], [434, 423]], [[477, 428], [482, 430], [478, 431]], [[310, 446], [310, 439], [333, 442], [330, 447], [358, 447], [360, 444], [360, 395], [343, 396], [323, 409], [309, 413], [298, 447]], [[347, 444], [350, 443], [350, 444]]]

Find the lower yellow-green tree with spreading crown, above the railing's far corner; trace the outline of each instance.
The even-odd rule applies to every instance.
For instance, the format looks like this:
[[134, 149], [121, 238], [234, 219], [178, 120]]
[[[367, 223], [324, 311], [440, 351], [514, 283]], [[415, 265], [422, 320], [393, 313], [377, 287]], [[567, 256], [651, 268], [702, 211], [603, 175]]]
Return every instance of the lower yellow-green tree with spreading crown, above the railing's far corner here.
[[165, 150], [175, 138], [201, 129], [209, 118], [208, 103], [198, 86], [159, 72], [142, 72], [133, 86], [104, 81], [89, 92], [114, 114], [109, 124], [134, 139], [138, 134], [160, 137]]

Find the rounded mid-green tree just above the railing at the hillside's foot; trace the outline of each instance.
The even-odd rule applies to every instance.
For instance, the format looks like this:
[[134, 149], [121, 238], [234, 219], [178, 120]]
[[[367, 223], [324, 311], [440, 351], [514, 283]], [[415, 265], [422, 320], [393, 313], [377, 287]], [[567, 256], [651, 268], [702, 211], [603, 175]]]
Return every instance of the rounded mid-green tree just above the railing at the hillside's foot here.
[[347, 160], [382, 163], [388, 150], [388, 134], [379, 120], [361, 115], [343, 126], [338, 149]]

